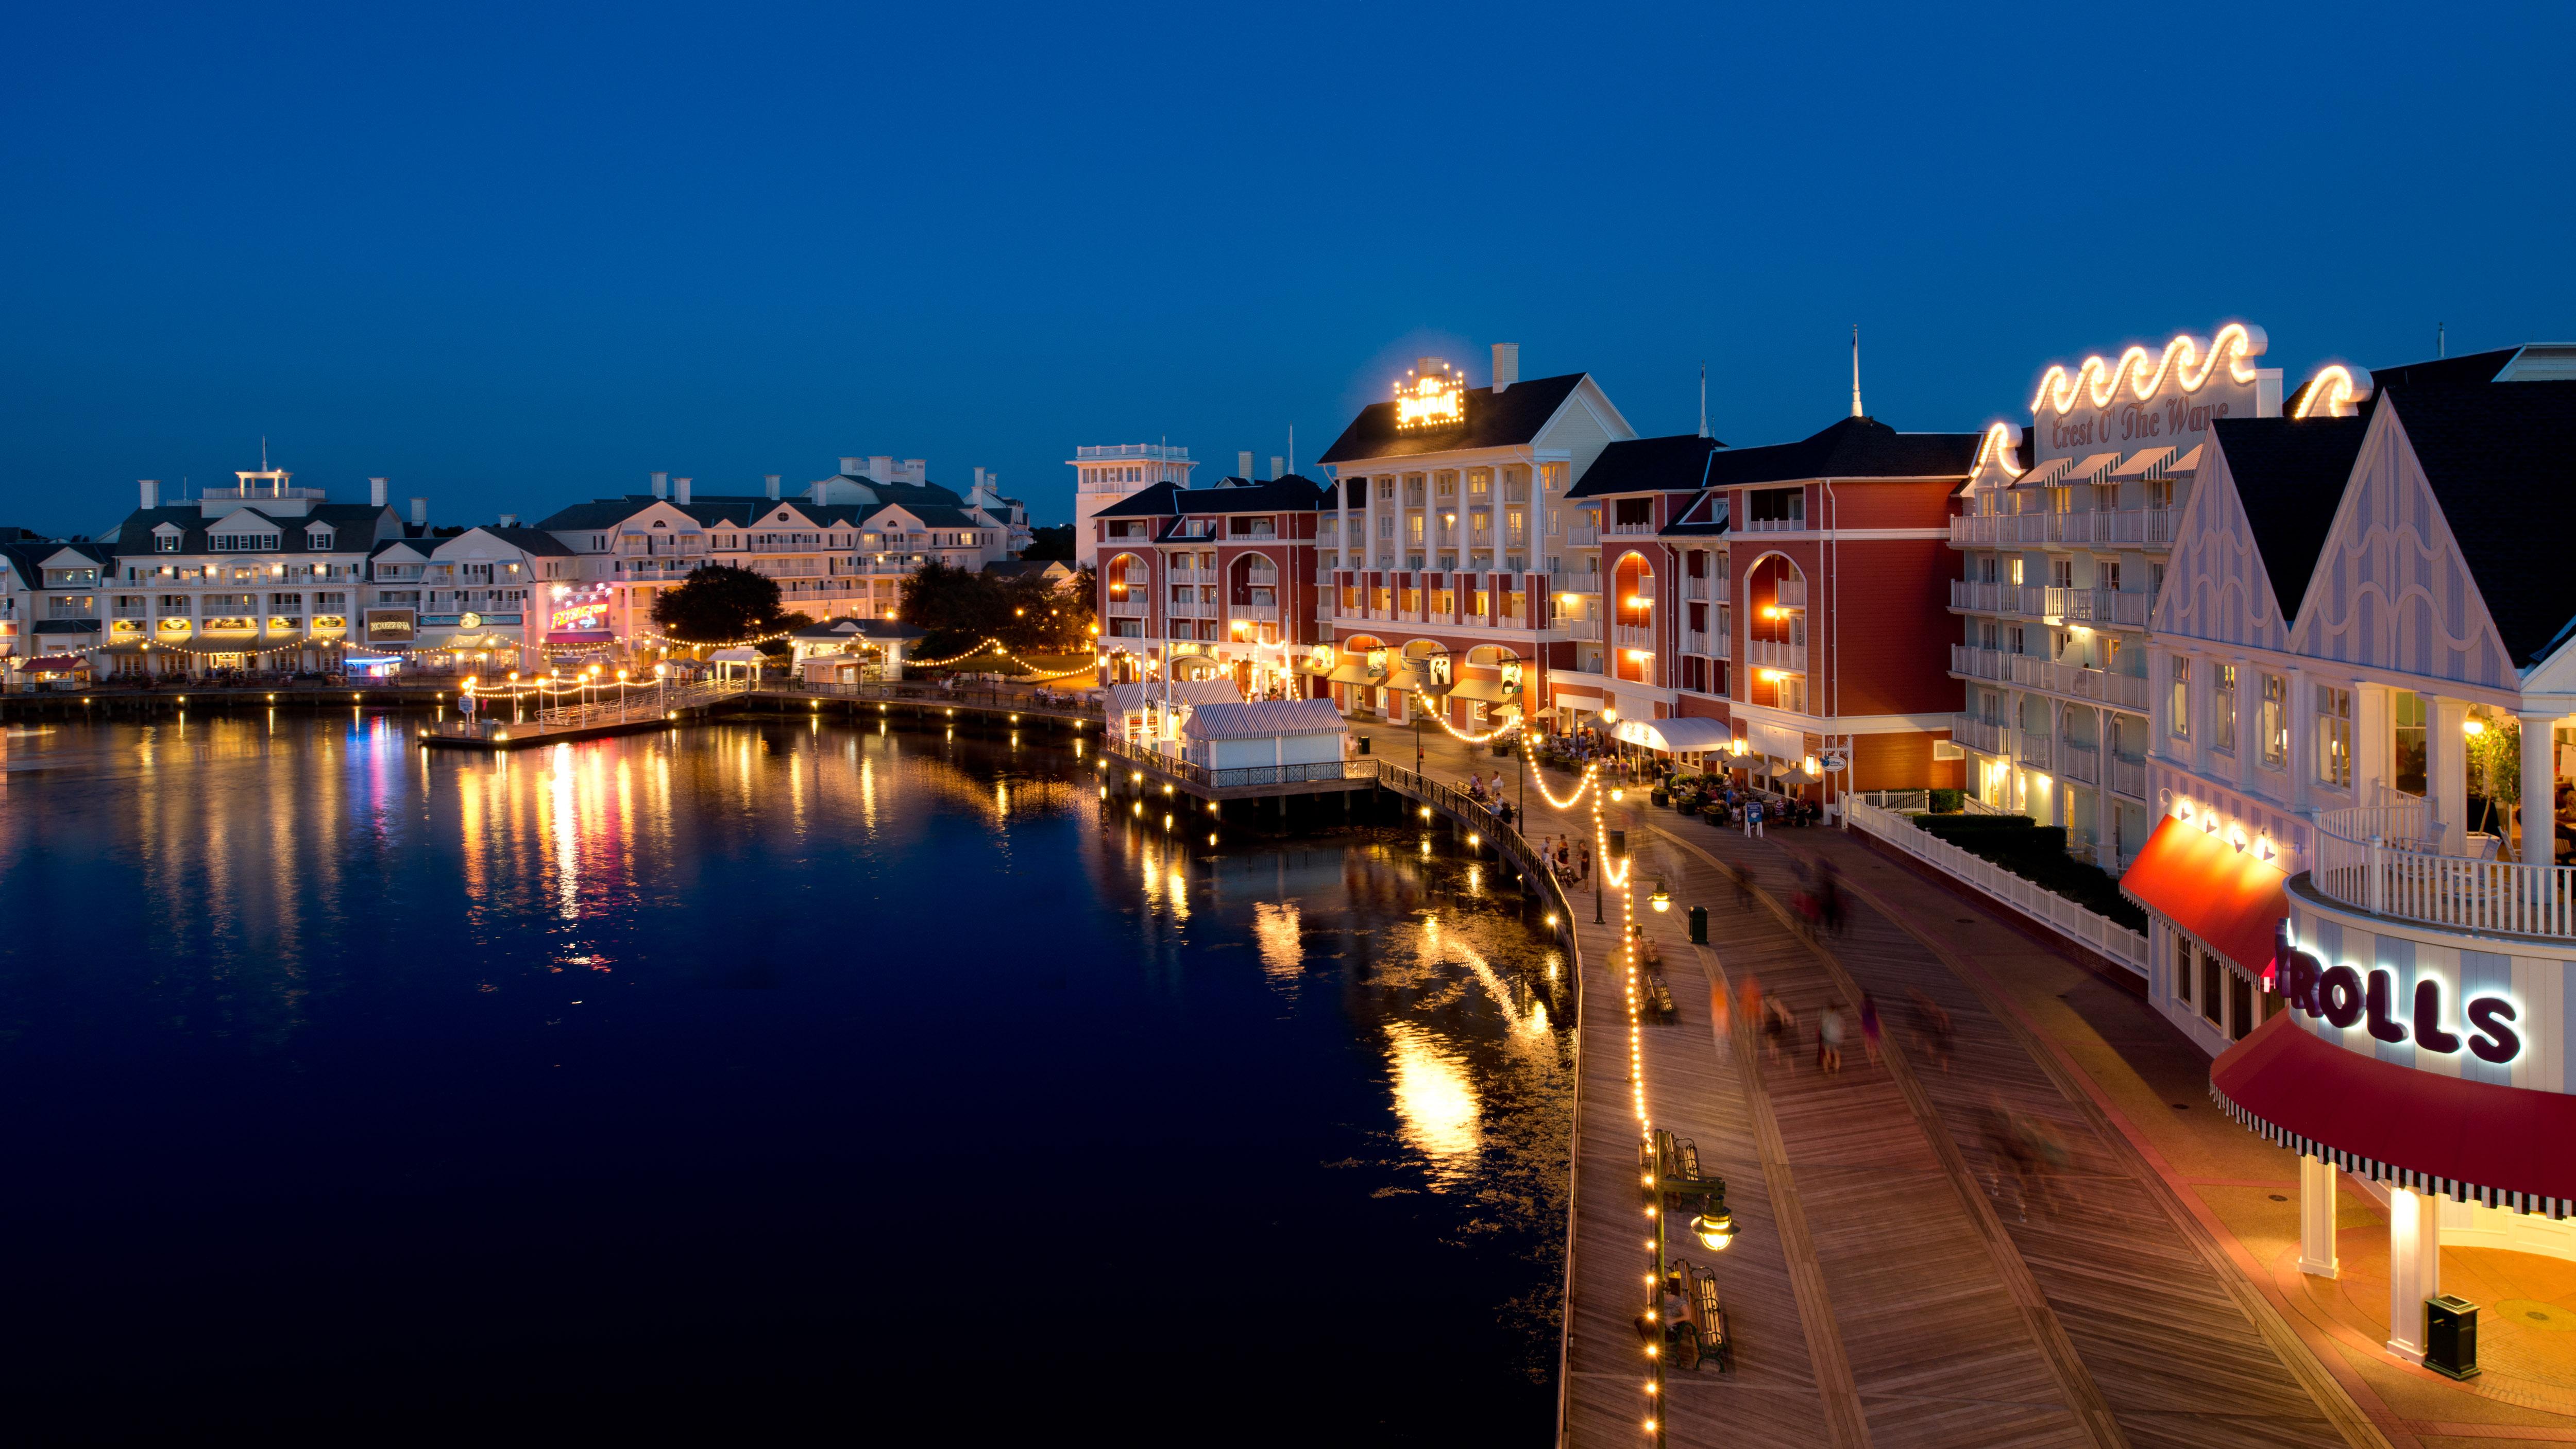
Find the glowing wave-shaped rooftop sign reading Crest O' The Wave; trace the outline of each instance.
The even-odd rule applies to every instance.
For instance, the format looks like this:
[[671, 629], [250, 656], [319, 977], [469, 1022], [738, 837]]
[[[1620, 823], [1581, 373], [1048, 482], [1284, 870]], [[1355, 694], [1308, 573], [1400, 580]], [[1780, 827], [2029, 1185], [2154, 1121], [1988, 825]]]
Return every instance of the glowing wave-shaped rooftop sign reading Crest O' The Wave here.
[[[2210, 438], [2221, 417], [2277, 412], [2280, 368], [2257, 368], [2262, 327], [2228, 322], [2213, 337], [2174, 337], [2161, 350], [2128, 347], [2112, 360], [2048, 368], [2030, 399], [2032, 463], [2169, 445], [2177, 456]], [[2269, 409], [2264, 404], [2272, 404]]]

